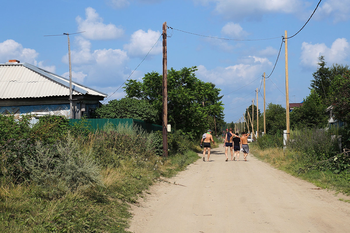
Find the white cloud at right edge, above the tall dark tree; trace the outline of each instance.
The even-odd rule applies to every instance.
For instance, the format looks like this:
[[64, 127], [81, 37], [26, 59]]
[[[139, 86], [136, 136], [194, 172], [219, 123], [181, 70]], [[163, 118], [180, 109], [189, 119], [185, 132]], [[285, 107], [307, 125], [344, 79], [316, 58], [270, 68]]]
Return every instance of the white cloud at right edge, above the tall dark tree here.
[[317, 67], [318, 57], [324, 55], [327, 63], [343, 63], [350, 53], [349, 42], [345, 38], [336, 39], [330, 48], [324, 43], [311, 44], [303, 42], [301, 45], [301, 65]]

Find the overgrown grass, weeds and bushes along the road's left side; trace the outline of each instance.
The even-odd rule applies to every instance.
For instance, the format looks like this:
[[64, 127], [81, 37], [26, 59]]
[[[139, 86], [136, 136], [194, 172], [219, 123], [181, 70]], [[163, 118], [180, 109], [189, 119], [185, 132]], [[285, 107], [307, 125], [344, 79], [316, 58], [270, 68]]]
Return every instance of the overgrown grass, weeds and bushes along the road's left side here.
[[[159, 177], [196, 161], [199, 147], [182, 132], [160, 132], [42, 117], [29, 127], [0, 115], [0, 232], [125, 232], [129, 204]], [[39, 139], [39, 140], [37, 140]], [[176, 139], [176, 142], [175, 142]]]

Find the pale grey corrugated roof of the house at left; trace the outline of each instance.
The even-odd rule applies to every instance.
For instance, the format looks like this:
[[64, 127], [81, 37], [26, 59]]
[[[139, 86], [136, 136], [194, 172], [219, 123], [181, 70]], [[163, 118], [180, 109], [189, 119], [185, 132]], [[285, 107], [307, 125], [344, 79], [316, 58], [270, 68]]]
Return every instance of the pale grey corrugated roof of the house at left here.
[[[107, 94], [72, 82], [73, 95]], [[0, 64], [0, 99], [69, 96], [69, 79], [28, 63]]]

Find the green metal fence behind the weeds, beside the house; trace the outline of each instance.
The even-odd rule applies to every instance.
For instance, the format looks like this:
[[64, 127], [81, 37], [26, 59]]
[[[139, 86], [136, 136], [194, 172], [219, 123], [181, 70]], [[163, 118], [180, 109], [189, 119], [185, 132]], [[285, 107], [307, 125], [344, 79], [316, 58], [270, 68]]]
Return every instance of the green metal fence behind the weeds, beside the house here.
[[[74, 125], [74, 123], [80, 122], [82, 119], [69, 119], [69, 125]], [[86, 119], [87, 123], [90, 124], [91, 128], [94, 130], [102, 129], [106, 123], [112, 123], [113, 125], [128, 124], [137, 125], [145, 129], [147, 132], [162, 130], [162, 126], [147, 123], [142, 120], [132, 119], [132, 118], [109, 118], [109, 119]]]

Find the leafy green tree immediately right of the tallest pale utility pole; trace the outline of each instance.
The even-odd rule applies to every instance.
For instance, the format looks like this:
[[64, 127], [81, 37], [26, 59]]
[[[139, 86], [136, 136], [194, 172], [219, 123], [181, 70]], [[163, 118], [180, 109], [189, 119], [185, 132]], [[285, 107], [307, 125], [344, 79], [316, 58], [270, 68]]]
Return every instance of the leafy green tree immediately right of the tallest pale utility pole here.
[[324, 128], [327, 126], [327, 104], [314, 90], [304, 99], [303, 105], [289, 114], [292, 128]]

